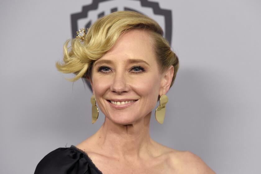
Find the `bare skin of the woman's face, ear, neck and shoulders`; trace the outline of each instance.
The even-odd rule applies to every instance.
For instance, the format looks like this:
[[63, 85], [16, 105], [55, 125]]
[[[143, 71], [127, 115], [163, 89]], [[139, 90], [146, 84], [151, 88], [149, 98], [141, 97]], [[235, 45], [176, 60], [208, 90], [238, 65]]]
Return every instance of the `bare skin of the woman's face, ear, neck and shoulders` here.
[[[173, 71], [170, 66], [159, 72], [153, 39], [143, 30], [125, 32], [94, 62], [89, 80], [106, 117], [101, 128], [76, 147], [103, 174], [214, 173], [197, 155], [168, 148], [149, 136], [151, 112], [158, 96], [169, 90]], [[135, 102], [123, 108], [108, 102], [123, 98]]]

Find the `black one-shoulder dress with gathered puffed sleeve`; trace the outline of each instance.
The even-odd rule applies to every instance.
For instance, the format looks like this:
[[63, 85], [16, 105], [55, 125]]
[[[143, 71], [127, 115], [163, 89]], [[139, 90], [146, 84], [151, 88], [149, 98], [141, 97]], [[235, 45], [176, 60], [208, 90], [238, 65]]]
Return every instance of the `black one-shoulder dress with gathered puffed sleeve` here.
[[88, 155], [74, 145], [53, 150], [37, 164], [34, 174], [102, 174]]

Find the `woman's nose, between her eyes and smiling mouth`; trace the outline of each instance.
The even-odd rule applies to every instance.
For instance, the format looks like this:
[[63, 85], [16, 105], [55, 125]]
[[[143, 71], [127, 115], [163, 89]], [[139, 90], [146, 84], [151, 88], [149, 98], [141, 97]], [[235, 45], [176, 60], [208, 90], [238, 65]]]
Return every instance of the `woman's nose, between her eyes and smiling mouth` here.
[[125, 74], [122, 72], [116, 72], [113, 75], [113, 81], [110, 90], [112, 92], [116, 92], [117, 94], [128, 92], [129, 88], [126, 82], [127, 80]]

